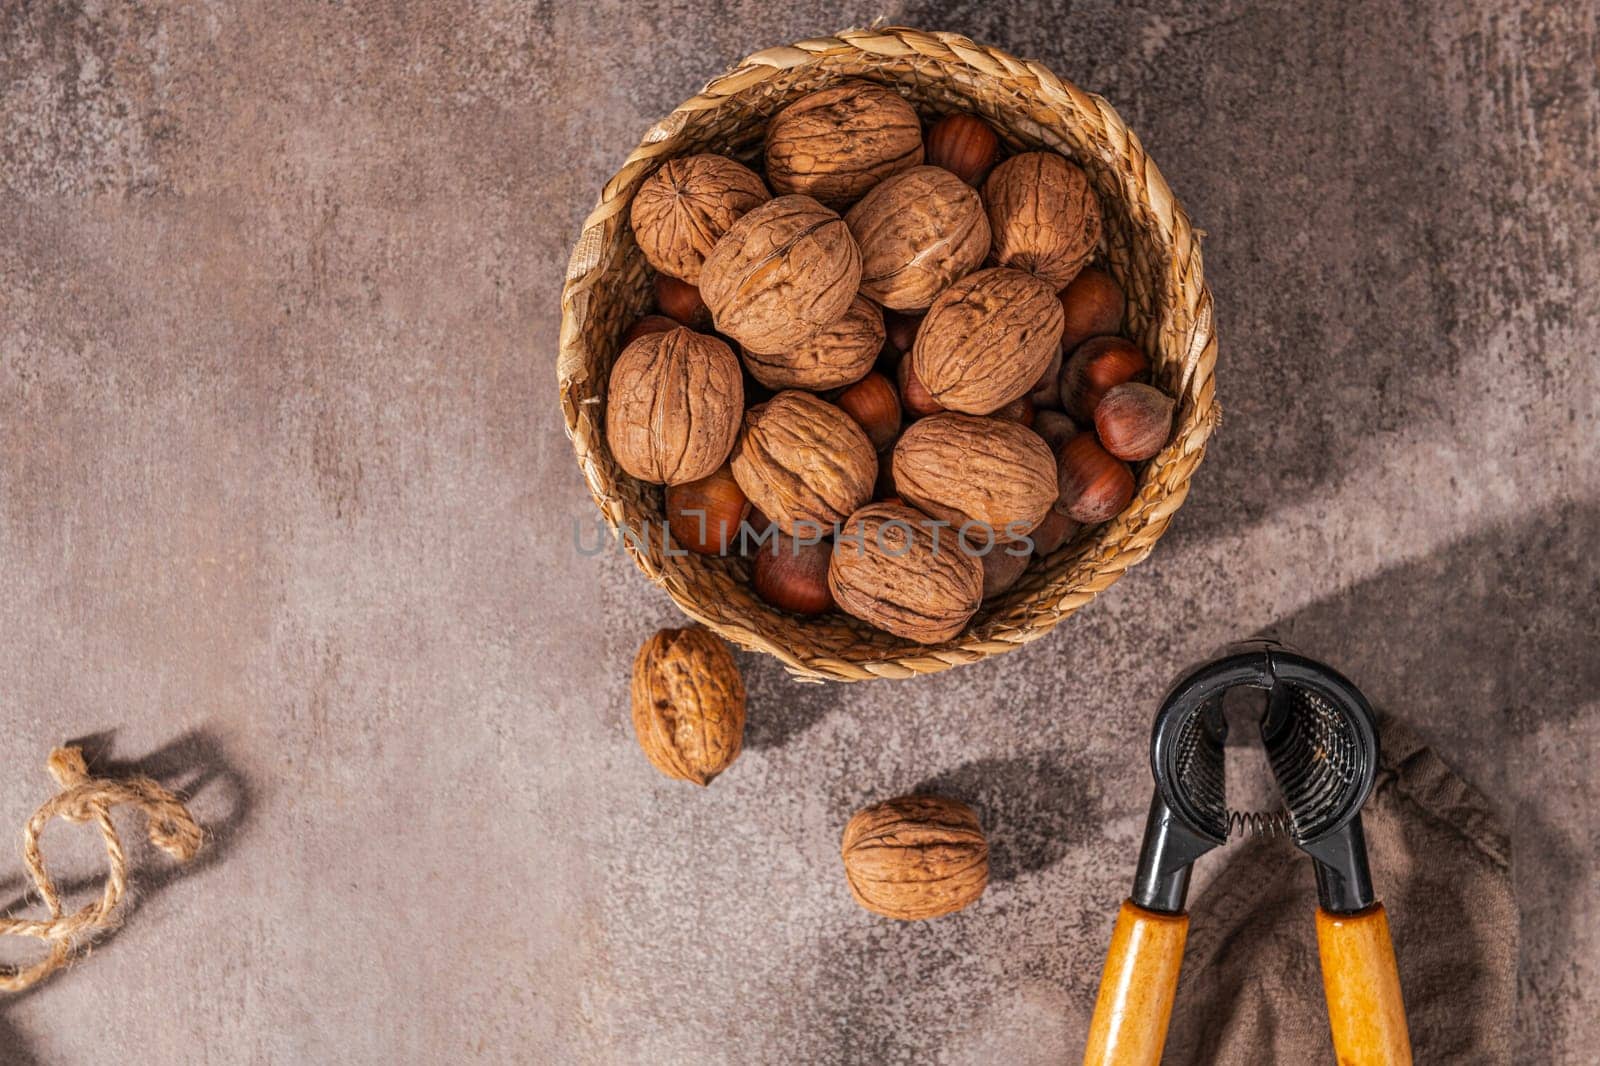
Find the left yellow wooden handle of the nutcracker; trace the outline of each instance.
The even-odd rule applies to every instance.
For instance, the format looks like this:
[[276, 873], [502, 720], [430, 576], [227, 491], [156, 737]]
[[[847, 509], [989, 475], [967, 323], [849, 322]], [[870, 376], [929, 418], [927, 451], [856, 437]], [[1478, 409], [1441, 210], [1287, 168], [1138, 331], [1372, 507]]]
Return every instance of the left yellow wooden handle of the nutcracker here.
[[1162, 914], [1123, 901], [1106, 952], [1083, 1066], [1162, 1061], [1187, 935], [1187, 914]]

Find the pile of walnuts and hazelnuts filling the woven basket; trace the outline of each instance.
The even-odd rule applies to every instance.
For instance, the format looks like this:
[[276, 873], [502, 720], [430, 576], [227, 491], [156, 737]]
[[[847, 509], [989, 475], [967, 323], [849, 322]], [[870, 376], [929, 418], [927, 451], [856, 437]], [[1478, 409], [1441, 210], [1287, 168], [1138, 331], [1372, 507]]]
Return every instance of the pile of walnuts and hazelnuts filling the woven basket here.
[[781, 610], [947, 640], [1171, 435], [1088, 176], [973, 115], [925, 134], [845, 82], [771, 120], [765, 181], [674, 158], [630, 221], [661, 314], [611, 368], [611, 455], [666, 485], [675, 546], [754, 555]]

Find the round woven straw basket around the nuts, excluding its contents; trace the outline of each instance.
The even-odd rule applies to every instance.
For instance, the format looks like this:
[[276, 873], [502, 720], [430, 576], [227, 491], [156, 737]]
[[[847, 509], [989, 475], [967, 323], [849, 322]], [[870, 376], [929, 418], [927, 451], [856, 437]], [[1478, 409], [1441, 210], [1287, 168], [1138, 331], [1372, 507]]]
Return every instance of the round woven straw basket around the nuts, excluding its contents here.
[[[634, 192], [677, 155], [722, 152], [758, 165], [766, 120], [842, 78], [893, 86], [923, 118], [952, 110], [981, 115], [1011, 150], [1054, 149], [1083, 166], [1104, 208], [1106, 261], [1128, 295], [1126, 331], [1150, 357], [1154, 383], [1178, 397], [1176, 432], [1139, 471], [1133, 503], [1112, 522], [1034, 560], [1010, 592], [939, 645], [912, 643], [842, 613], [786, 615], [755, 597], [744, 560], [675, 547], [669, 554], [662, 490], [624, 474], [605, 442], [606, 375], [622, 331], [650, 303], [650, 271], [627, 224]], [[882, 27], [758, 51], [645, 133], [600, 190], [573, 250], [562, 290], [557, 375], [584, 479], [651, 581], [691, 618], [738, 645], [778, 656], [797, 677], [864, 680], [931, 674], [1043, 637], [1144, 559], [1189, 493], [1219, 423], [1214, 365], [1211, 291], [1197, 234], [1117, 112], [1037, 62], [955, 34]]]

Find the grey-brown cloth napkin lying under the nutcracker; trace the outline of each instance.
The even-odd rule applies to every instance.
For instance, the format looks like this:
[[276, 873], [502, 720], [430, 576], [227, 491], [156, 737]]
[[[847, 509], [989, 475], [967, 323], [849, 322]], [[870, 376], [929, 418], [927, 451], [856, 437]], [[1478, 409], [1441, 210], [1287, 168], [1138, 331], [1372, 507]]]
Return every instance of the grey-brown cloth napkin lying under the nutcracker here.
[[[1389, 911], [1418, 1063], [1510, 1063], [1517, 906], [1510, 842], [1488, 802], [1387, 715], [1362, 813]], [[1190, 901], [1165, 1063], [1333, 1063], [1310, 860], [1286, 840], [1235, 845]]]

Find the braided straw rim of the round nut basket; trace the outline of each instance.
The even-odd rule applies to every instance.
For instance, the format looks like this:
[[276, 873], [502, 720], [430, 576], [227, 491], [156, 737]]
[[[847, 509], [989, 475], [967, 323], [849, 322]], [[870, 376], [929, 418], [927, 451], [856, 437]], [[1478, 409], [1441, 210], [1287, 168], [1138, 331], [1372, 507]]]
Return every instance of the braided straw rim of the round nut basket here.
[[[605, 271], [611, 266], [610, 258], [603, 253], [614, 240], [616, 230], [627, 224], [632, 187], [661, 158], [680, 154], [672, 144], [672, 138], [683, 118], [696, 112], [718, 109], [730, 98], [778, 74], [822, 64], [851, 53], [862, 53], [858, 58], [866, 62], [917, 56], [934, 59], [941, 67], [963, 67], [963, 74], [974, 80], [1000, 80], [1013, 88], [1026, 90], [1029, 96], [1046, 104], [1048, 114], [1042, 112], [1035, 118], [1042, 130], [1066, 126], [1064, 120], [1056, 118], [1061, 112], [1070, 112], [1077, 120], [1094, 128], [1109, 146], [1109, 152], [1101, 162], [1115, 162], [1117, 168], [1123, 171], [1120, 184], [1126, 205], [1139, 208], [1141, 219], [1154, 224], [1157, 240], [1170, 258], [1166, 283], [1181, 295], [1179, 306], [1187, 312], [1187, 320], [1181, 323], [1181, 336], [1178, 338], [1182, 351], [1181, 418], [1171, 442], [1150, 461], [1150, 474], [1160, 474], [1160, 477], [1142, 475], [1141, 488], [1123, 514], [1094, 527], [1093, 551], [1080, 552], [1074, 563], [1058, 563], [1048, 573], [1043, 586], [1027, 597], [1027, 605], [1032, 610], [1021, 624], [974, 626], [942, 643], [910, 645], [907, 653], [885, 653], [859, 659], [802, 655], [718, 616], [698, 602], [682, 581], [675, 581], [670, 568], [661, 567], [653, 559], [656, 546], [648, 530], [645, 530], [643, 538], [624, 536], [624, 504], [592, 453], [597, 437], [598, 447], [603, 448], [605, 443], [603, 432], [597, 434], [594, 426], [600, 399], [584, 395], [594, 391], [595, 383], [590, 381], [586, 359], [589, 349], [582, 336], [589, 317], [590, 293], [603, 282]], [[1171, 194], [1155, 162], [1146, 155], [1138, 136], [1122, 122], [1115, 109], [1101, 96], [1086, 93], [1037, 61], [1018, 59], [998, 48], [976, 45], [960, 34], [928, 32], [904, 26], [846, 29], [832, 37], [765, 48], [749, 54], [726, 74], [707, 82], [701, 93], [683, 101], [667, 117], [651, 125], [638, 147], [605, 182], [594, 211], [584, 219], [562, 287], [557, 383], [565, 431], [595, 506], [611, 533], [621, 536], [627, 554], [645, 576], [666, 589], [674, 603], [691, 619], [706, 624], [739, 647], [773, 655], [800, 680], [914, 677], [1011, 651], [1046, 635], [1117, 581], [1130, 567], [1149, 555], [1155, 541], [1165, 533], [1171, 515], [1184, 503], [1194, 471], [1205, 455], [1206, 442], [1221, 424], [1221, 407], [1214, 389], [1213, 298], [1202, 266], [1202, 235], [1203, 232], [1192, 227], [1187, 213]], [[598, 383], [598, 387], [603, 389], [603, 381]], [[589, 421], [586, 423], [586, 419]]]

